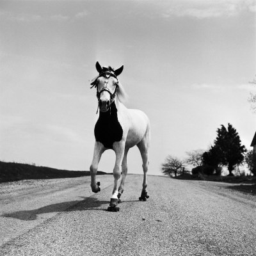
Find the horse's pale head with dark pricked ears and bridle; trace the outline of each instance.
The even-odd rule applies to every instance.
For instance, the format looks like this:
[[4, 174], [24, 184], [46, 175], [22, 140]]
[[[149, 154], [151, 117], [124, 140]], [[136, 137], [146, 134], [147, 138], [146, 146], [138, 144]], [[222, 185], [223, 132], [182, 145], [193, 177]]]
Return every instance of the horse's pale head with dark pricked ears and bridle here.
[[[101, 67], [99, 62], [96, 63], [96, 69], [99, 76], [91, 83], [92, 87], [97, 88], [97, 98], [99, 101], [99, 109], [102, 112], [107, 112], [110, 105], [113, 103], [118, 90], [118, 78], [124, 66], [114, 70], [112, 67]], [[91, 88], [92, 88], [91, 87]]]

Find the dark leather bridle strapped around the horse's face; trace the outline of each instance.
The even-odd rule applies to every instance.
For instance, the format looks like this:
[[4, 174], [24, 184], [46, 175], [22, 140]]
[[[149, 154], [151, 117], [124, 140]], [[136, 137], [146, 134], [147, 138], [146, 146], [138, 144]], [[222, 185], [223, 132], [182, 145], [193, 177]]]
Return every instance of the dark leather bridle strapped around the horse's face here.
[[[105, 77], [105, 78], [109, 78], [109, 77], [111, 77], [111, 76], [113, 76], [113, 77], [116, 78], [117, 82], [116, 82], [116, 84], [115, 84], [115, 92], [113, 92], [113, 93], [110, 92], [109, 88], [107, 87], [108, 81], [105, 81], [102, 90], [100, 90], [100, 92], [99, 92], [98, 86], [97, 86], [97, 85], [98, 85], [98, 84], [97, 84], [97, 80], [98, 80], [99, 77], [102, 77], [102, 76]], [[109, 70], [109, 69], [108, 69], [108, 70], [104, 70], [103, 72], [101, 72], [101, 73], [99, 74], [99, 76], [97, 76], [97, 78], [91, 83], [91, 85], [92, 85], [92, 87], [90, 87], [91, 89], [92, 89], [93, 87], [97, 88], [96, 96], [97, 96], [97, 99], [98, 99], [98, 108], [97, 108], [97, 113], [98, 113], [99, 102], [100, 102], [100, 94], [101, 94], [102, 92], [106, 91], [106, 92], [108, 92], [108, 93], [110, 94], [110, 105], [111, 105], [111, 104], [113, 103], [113, 101], [115, 100], [116, 92], [117, 92], [118, 86], [119, 86], [119, 84], [118, 84], [118, 78], [117, 78], [117, 76], [116, 76], [113, 72], [111, 72], [111, 70]]]

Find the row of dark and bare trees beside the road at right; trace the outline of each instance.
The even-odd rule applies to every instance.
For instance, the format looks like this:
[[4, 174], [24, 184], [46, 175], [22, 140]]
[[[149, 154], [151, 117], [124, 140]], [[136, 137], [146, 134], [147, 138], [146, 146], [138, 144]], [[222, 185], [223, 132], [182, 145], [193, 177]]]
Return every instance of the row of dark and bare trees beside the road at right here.
[[[240, 137], [236, 129], [228, 124], [227, 128], [221, 125], [217, 129], [217, 136], [209, 150], [192, 150], [186, 152], [187, 159], [179, 159], [175, 156], [166, 157], [161, 166], [161, 170], [165, 175], [177, 177], [184, 173], [192, 173], [192, 175], [216, 175], [220, 176], [223, 167], [228, 170], [228, 176], [234, 176], [234, 170], [238, 170], [239, 166], [246, 164], [250, 174], [256, 175], [253, 164], [253, 150], [246, 150], [242, 145]], [[193, 166], [192, 170], [188, 170], [188, 166]]]

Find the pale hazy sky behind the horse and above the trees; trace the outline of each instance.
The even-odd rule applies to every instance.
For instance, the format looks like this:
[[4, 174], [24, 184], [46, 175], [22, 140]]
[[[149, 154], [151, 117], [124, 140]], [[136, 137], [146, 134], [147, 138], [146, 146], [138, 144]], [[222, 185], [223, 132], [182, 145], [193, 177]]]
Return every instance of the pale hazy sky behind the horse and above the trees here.
[[[255, 1], [0, 1], [0, 160], [89, 170], [95, 63], [119, 76], [151, 123], [148, 174], [207, 150], [221, 124], [256, 131]], [[138, 148], [128, 172], [143, 173]], [[112, 172], [115, 153], [99, 170]]]

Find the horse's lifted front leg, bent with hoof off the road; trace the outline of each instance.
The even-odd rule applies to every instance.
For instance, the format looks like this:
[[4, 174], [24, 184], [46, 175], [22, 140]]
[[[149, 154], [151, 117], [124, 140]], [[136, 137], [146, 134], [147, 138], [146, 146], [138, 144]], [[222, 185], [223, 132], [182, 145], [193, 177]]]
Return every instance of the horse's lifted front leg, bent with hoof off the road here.
[[100, 191], [100, 182], [96, 182], [96, 174], [98, 171], [99, 161], [102, 153], [104, 152], [104, 146], [102, 143], [95, 141], [92, 164], [90, 166], [91, 174], [91, 188], [94, 193]]

